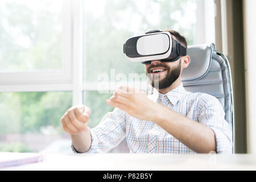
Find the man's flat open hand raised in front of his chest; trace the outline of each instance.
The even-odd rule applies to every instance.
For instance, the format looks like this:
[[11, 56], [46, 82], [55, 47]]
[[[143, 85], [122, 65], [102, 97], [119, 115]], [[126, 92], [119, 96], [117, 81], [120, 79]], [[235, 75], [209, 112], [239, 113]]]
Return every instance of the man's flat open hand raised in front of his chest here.
[[106, 102], [126, 111], [135, 118], [147, 121], [154, 121], [155, 112], [160, 106], [148, 99], [142, 90], [126, 86], [120, 86]]

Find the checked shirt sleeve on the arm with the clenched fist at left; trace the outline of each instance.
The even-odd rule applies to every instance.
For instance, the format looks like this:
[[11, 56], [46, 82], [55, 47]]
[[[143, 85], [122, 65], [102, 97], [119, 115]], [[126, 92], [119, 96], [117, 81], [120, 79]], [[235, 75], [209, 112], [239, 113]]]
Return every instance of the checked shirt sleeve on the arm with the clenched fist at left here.
[[90, 129], [90, 134], [92, 144], [86, 153], [108, 152], [116, 147], [126, 136], [125, 111], [115, 108], [107, 113], [96, 127]]

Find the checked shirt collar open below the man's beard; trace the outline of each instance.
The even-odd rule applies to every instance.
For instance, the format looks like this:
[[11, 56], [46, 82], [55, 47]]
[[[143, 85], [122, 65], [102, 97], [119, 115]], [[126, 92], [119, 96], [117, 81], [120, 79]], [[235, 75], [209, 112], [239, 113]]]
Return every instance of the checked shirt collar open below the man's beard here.
[[[179, 86], [177, 86], [175, 89], [171, 90], [170, 92], [167, 92], [165, 95], [170, 100], [172, 105], [176, 105], [177, 102], [183, 97], [186, 90], [184, 89], [184, 86], [182, 82]], [[156, 102], [159, 98], [159, 96], [162, 96], [164, 94], [161, 94], [158, 92], [158, 90], [154, 89], [154, 94], [152, 95], [152, 100]]]

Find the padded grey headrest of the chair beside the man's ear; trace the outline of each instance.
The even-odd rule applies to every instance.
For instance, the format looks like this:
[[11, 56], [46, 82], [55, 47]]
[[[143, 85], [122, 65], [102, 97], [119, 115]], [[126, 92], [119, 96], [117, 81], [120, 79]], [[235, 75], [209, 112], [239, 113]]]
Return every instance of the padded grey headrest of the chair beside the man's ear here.
[[181, 73], [181, 81], [193, 81], [205, 76], [209, 71], [214, 49], [214, 44], [188, 46], [187, 55], [191, 61]]

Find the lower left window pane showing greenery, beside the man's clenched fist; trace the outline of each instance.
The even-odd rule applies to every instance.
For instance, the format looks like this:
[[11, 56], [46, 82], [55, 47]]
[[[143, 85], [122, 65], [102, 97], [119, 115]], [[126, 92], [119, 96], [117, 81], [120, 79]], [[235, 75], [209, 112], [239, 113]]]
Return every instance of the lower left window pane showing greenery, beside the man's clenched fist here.
[[0, 151], [42, 151], [68, 139], [60, 118], [72, 106], [71, 92], [0, 93]]

